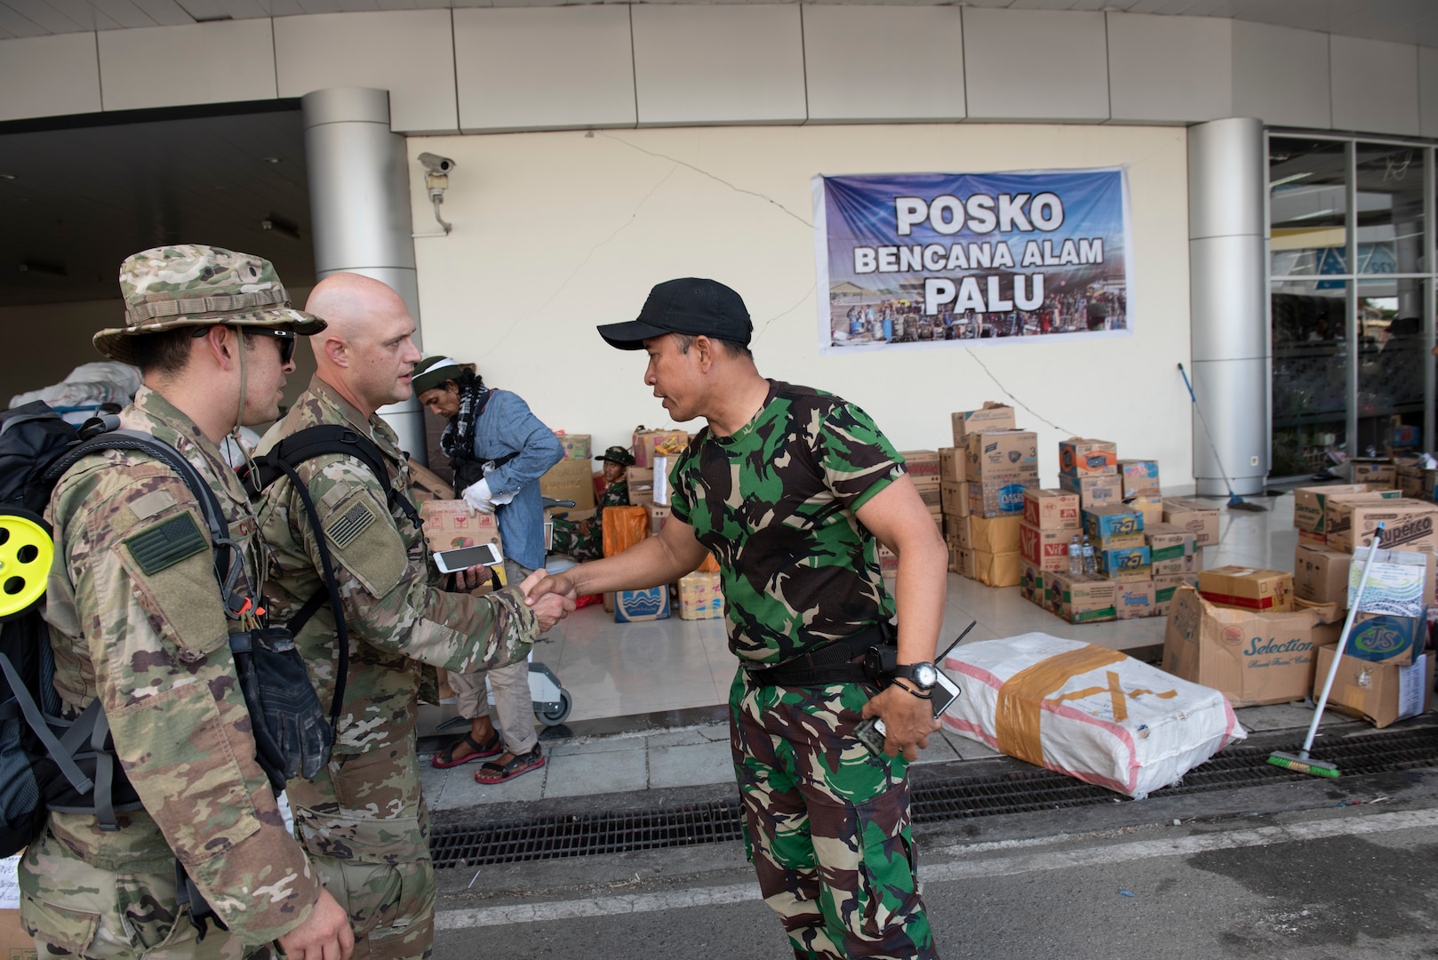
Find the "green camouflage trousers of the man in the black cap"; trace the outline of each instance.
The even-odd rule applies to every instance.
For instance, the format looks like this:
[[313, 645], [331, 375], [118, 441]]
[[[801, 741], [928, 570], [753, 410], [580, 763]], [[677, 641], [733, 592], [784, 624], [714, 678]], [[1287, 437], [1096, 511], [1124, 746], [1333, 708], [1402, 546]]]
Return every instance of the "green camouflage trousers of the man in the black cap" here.
[[907, 761], [854, 727], [870, 689], [729, 689], [745, 846], [800, 960], [936, 960], [909, 829]]

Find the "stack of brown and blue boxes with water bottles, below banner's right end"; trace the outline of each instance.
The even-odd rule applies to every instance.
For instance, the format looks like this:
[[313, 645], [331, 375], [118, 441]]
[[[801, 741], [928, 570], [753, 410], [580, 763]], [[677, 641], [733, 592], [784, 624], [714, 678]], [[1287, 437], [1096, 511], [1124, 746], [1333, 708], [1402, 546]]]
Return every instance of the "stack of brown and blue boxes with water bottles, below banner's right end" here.
[[[1218, 511], [1165, 501], [1158, 462], [1119, 459], [1107, 440], [1067, 439], [1058, 463], [1057, 489], [1027, 494], [1022, 596], [1070, 623], [1165, 616], [1175, 590], [1196, 581], [1199, 548], [1218, 543]], [[1086, 543], [1096, 571], [1070, 573]]]

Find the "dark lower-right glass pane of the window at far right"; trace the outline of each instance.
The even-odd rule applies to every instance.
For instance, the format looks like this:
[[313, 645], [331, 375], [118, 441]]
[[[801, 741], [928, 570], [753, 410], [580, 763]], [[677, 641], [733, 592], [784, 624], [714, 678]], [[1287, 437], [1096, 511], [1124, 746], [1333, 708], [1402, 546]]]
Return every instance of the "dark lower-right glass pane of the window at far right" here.
[[1428, 364], [1422, 317], [1422, 281], [1359, 282], [1356, 453], [1419, 446]]

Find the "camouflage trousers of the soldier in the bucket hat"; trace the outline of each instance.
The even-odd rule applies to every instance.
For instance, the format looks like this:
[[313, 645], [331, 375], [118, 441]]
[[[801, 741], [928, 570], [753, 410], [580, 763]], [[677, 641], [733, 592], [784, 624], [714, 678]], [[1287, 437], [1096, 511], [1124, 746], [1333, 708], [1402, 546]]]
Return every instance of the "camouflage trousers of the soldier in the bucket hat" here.
[[244, 960], [269, 957], [213, 923], [200, 941], [175, 904], [175, 871], [92, 866], [45, 830], [20, 859], [20, 924], [42, 957], [85, 960]]

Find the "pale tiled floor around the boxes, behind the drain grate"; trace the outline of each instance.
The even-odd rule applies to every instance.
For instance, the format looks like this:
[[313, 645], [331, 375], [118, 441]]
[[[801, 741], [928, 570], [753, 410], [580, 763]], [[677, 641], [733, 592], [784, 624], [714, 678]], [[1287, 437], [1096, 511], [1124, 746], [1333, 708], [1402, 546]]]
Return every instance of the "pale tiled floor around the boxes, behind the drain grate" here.
[[[1222, 505], [1222, 501], [1214, 501]], [[1221, 544], [1204, 550], [1204, 566], [1260, 566], [1293, 569], [1297, 533], [1293, 530], [1293, 497], [1255, 502], [1271, 512], [1221, 512]], [[1160, 643], [1163, 619], [1125, 620], [1073, 626], [1018, 596], [1017, 587], [992, 590], [949, 576], [943, 636], [956, 636], [978, 620], [969, 639], [997, 639], [1030, 630], [1114, 648]], [[577, 612], [535, 649], [574, 698], [571, 721], [627, 717], [725, 702], [735, 661], [728, 652], [722, 620], [617, 625], [603, 607]], [[1294, 730], [1296, 740], [1311, 720], [1300, 704], [1251, 707], [1238, 711], [1250, 731]], [[1326, 715], [1330, 723], [1350, 723]], [[480, 786], [477, 764], [436, 770], [421, 760], [424, 794], [433, 809], [469, 809], [512, 800], [580, 797], [628, 793], [660, 787], [703, 786], [732, 782], [728, 727], [719, 717], [705, 723], [656, 731], [631, 730], [610, 735], [544, 737], [546, 766], [510, 783]], [[988, 747], [940, 731], [930, 737], [920, 763], [978, 760], [995, 756]]]

